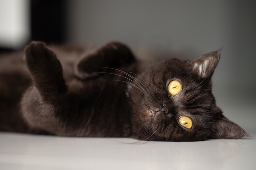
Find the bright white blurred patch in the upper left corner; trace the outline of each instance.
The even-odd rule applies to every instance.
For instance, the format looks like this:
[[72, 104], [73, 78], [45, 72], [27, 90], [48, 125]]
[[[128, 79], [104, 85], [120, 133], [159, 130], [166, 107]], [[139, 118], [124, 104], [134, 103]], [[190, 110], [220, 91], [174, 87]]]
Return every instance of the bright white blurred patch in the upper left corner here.
[[0, 46], [19, 49], [29, 38], [29, 0], [0, 0]]

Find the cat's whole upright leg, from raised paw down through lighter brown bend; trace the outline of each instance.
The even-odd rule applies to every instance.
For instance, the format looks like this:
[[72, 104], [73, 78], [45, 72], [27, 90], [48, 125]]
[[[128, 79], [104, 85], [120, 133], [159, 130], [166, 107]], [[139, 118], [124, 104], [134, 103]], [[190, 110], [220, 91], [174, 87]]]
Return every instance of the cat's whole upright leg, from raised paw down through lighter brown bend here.
[[34, 86], [22, 98], [22, 115], [32, 128], [61, 135], [70, 112], [61, 63], [43, 42], [31, 42], [25, 48], [25, 62]]

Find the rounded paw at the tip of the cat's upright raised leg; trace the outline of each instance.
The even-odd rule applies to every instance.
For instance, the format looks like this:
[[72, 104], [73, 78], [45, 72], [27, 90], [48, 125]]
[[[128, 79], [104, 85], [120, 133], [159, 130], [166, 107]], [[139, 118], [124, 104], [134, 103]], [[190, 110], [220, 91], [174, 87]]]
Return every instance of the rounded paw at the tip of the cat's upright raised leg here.
[[31, 72], [52, 70], [60, 66], [55, 53], [45, 43], [35, 41], [25, 48], [25, 62]]

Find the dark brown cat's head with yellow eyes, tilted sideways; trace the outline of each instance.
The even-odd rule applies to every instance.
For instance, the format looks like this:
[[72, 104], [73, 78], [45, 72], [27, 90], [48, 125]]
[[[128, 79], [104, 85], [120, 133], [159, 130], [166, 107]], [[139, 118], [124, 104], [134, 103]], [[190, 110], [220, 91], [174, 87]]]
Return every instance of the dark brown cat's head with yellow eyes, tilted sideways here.
[[135, 137], [144, 140], [234, 139], [246, 132], [222, 115], [211, 92], [220, 50], [196, 60], [166, 60], [137, 77], [130, 89]]

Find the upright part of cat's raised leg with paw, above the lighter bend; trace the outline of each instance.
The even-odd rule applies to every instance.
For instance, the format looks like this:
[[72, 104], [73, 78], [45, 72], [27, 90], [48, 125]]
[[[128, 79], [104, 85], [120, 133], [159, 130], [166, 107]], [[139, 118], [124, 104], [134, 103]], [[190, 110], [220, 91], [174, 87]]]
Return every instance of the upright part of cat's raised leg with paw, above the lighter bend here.
[[25, 48], [25, 62], [43, 99], [54, 101], [67, 92], [61, 63], [45, 43], [31, 42]]

